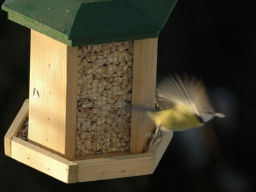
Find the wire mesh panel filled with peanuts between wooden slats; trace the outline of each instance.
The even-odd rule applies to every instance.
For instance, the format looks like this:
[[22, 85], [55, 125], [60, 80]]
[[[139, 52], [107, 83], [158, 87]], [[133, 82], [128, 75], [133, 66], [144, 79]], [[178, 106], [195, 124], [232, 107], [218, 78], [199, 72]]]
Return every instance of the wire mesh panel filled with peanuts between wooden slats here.
[[133, 41], [78, 47], [76, 156], [130, 151]]

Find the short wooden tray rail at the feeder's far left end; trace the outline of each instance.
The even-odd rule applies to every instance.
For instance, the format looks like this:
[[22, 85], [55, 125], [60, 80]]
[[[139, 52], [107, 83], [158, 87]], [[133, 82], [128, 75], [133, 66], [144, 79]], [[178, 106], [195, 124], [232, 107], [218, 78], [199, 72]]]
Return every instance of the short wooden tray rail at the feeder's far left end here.
[[26, 99], [20, 108], [17, 116], [12, 122], [9, 130], [5, 135], [5, 155], [11, 157], [11, 139], [13, 136], [17, 136], [18, 132], [22, 129], [22, 125], [29, 115], [29, 99]]

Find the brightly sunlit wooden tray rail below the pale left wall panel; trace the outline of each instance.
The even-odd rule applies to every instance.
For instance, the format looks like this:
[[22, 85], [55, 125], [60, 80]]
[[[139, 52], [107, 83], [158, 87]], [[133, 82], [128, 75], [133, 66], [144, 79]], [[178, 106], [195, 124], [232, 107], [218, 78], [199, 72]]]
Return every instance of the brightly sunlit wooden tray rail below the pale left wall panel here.
[[78, 165], [76, 163], [17, 137], [13, 137], [11, 146], [13, 159], [65, 183], [77, 182]]

